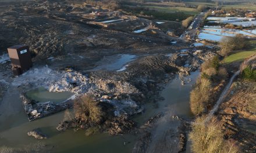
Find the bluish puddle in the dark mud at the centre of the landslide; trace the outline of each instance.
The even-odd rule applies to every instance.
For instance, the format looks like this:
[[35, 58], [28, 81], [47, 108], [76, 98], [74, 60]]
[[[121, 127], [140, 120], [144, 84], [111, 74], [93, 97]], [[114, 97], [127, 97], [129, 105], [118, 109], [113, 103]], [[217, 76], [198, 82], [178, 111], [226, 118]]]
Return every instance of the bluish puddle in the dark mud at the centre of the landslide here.
[[136, 55], [133, 54], [117, 54], [113, 56], [105, 56], [102, 60], [97, 62], [98, 66], [93, 68], [93, 71], [123, 71], [122, 68], [126, 68], [124, 66], [135, 59]]

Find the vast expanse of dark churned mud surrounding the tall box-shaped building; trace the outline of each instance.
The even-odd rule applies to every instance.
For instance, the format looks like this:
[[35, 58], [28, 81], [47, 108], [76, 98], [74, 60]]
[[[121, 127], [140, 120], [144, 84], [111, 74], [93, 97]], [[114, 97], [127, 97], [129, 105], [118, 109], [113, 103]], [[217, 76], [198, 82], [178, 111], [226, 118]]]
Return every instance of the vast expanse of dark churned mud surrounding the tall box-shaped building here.
[[[102, 23], [108, 20], [118, 21]], [[0, 54], [6, 54], [9, 46], [24, 43], [30, 46], [34, 62], [33, 68], [19, 77], [13, 77], [10, 61], [0, 64], [0, 101], [10, 88], [22, 94], [41, 86], [50, 92], [90, 93], [102, 107], [111, 105], [106, 108], [111, 112], [111, 119], [105, 122], [108, 128], [105, 130], [111, 134], [129, 132], [130, 129], [123, 125], [130, 121], [123, 118], [143, 112], [145, 103], [161, 100], [161, 83], [169, 82], [174, 75], [183, 79], [216, 53], [216, 48], [191, 47], [175, 32], [171, 37], [166, 34], [168, 30], [162, 31], [151, 20], [94, 8], [83, 2], [1, 3], [0, 22]], [[144, 32], [134, 32], [144, 28], [147, 28]], [[136, 59], [122, 71], [93, 71], [99, 61], [117, 54], [132, 54]], [[33, 109], [25, 111], [33, 115]], [[42, 108], [37, 112], [40, 110], [45, 111]], [[172, 122], [168, 119], [165, 123]], [[181, 126], [180, 121], [175, 122], [159, 142], [174, 137], [176, 143], [172, 145], [184, 143]], [[158, 150], [157, 143], [147, 150]]]

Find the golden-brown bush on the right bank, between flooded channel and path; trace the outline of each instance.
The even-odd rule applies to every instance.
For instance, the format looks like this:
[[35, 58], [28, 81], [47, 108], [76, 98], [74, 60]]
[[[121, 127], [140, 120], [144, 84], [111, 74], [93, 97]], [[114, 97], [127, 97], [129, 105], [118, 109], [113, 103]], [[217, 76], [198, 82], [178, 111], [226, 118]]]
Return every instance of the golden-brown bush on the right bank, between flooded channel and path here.
[[211, 95], [211, 81], [205, 78], [199, 78], [190, 92], [190, 109], [194, 115], [206, 111]]

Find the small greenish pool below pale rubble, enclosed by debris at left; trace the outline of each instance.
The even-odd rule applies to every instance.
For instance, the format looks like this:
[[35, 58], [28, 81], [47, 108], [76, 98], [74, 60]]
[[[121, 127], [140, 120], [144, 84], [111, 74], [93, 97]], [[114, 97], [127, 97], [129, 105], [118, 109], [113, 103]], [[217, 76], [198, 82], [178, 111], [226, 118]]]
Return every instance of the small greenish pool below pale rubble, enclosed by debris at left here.
[[45, 88], [37, 88], [34, 90], [30, 90], [26, 93], [27, 97], [30, 99], [33, 99], [35, 101], [38, 101], [39, 103], [52, 101], [54, 103], [59, 103], [62, 101], [65, 101], [69, 99], [71, 96], [73, 96], [73, 93], [71, 92], [49, 92]]

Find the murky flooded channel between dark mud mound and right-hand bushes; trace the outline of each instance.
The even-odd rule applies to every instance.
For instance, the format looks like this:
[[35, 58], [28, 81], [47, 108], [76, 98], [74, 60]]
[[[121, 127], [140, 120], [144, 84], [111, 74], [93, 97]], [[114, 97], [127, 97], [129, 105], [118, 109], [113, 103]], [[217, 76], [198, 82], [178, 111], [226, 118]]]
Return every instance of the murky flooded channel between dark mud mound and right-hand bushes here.
[[137, 115], [134, 118], [134, 121], [143, 124], [150, 116], [154, 116], [159, 112], [168, 112], [170, 110], [178, 116], [185, 118], [190, 117], [192, 115], [189, 104], [190, 90], [192, 88], [191, 85], [195, 83], [198, 75], [199, 71], [192, 72], [188, 77], [191, 79], [191, 82], [186, 83], [184, 86], [181, 85], [181, 81], [177, 76], [172, 82], [168, 83], [165, 90], [162, 91], [161, 96], [165, 100], [158, 101], [157, 108], [151, 103], [146, 103], [145, 112], [141, 115]]

